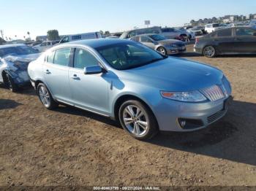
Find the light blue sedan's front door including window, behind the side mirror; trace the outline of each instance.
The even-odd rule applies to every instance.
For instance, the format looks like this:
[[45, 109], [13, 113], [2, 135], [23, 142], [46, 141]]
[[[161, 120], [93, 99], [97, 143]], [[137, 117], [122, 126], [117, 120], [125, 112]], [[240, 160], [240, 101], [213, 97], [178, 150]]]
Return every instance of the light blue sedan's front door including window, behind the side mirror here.
[[74, 67], [69, 69], [69, 84], [75, 106], [92, 112], [109, 113], [108, 73], [84, 74], [86, 66], [99, 65], [99, 61], [88, 50], [75, 49]]

